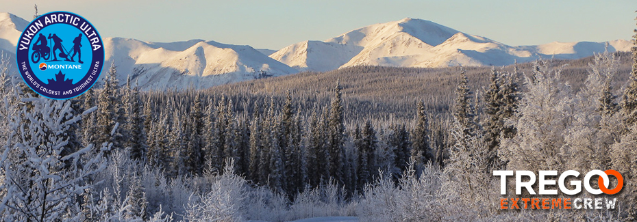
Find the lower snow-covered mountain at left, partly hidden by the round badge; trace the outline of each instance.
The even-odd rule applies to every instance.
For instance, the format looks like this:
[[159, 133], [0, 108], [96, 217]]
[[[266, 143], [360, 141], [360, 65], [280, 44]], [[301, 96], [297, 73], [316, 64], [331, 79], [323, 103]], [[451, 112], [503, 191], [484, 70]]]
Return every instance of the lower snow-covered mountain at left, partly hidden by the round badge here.
[[[18, 30], [27, 25], [23, 18], [0, 13], [0, 53], [14, 55], [21, 34]], [[271, 76], [298, 72], [251, 46], [204, 40], [163, 43], [102, 38], [105, 59], [115, 61], [121, 83], [130, 75], [142, 89], [205, 88], [255, 79], [262, 72]]]

